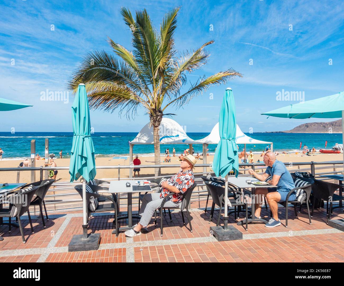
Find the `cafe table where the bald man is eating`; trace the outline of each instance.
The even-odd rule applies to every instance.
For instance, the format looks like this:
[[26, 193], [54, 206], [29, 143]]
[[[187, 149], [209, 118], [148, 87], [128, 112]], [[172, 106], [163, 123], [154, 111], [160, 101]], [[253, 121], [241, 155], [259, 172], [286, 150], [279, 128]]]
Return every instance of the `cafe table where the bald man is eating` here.
[[[235, 185], [238, 187], [239, 192], [243, 192], [241, 189], [251, 189], [251, 200], [252, 200], [252, 204], [251, 204], [251, 218], [248, 219], [248, 222], [264, 222], [267, 223], [268, 221], [262, 218], [256, 218], [255, 217], [255, 190], [256, 188], [277, 188], [277, 186], [272, 186], [270, 184], [267, 185], [254, 185], [254, 184], [248, 184], [246, 183], [246, 180], [251, 180], [251, 182], [259, 182], [259, 180], [257, 180], [256, 178], [252, 178], [252, 177], [238, 177], [235, 178], [235, 176], [233, 177], [228, 177], [228, 183]], [[237, 225], [243, 225], [246, 224], [245, 220], [241, 220], [239, 222], [237, 222]]]

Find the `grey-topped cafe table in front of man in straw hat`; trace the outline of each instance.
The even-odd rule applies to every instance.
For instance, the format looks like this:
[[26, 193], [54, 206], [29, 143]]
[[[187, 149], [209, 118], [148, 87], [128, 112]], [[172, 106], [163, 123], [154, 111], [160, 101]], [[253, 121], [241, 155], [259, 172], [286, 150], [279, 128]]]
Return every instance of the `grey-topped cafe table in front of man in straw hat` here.
[[[137, 182], [144, 181], [144, 180], [123, 180], [123, 181], [111, 181], [109, 186], [109, 193], [110, 194], [116, 194], [116, 193], [127, 193], [128, 194], [128, 214], [126, 216], [119, 216], [117, 219], [128, 219], [128, 227], [121, 227], [119, 228], [120, 231], [123, 230], [129, 230], [132, 229], [132, 219], [140, 219], [141, 216], [139, 215], [133, 215], [132, 214], [132, 193], [138, 193], [138, 192], [151, 192], [152, 188], [150, 187], [149, 183], [150, 181], [145, 181], [148, 183], [145, 183], [143, 186], [139, 186]], [[127, 186], [127, 183], [130, 184], [130, 186]], [[112, 231], [112, 234], [116, 233], [116, 229]]]

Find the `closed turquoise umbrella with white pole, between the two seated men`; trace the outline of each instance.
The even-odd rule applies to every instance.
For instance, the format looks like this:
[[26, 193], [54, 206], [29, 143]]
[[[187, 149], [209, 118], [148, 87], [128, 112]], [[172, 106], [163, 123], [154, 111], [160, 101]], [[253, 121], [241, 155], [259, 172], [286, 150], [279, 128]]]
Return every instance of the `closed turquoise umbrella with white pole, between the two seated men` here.
[[231, 88], [227, 88], [222, 101], [218, 129], [220, 141], [217, 144], [213, 170], [216, 176], [225, 179], [225, 216], [224, 230], [228, 225], [228, 173], [233, 170], [235, 176], [239, 174], [238, 148], [235, 143], [236, 136], [236, 111], [234, 96]]

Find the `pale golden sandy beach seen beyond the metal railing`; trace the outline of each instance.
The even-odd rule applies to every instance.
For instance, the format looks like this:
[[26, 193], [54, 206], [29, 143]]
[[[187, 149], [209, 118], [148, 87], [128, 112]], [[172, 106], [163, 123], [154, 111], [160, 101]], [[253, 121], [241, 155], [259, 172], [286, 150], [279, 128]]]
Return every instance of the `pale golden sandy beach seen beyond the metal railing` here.
[[[255, 154], [254, 155], [254, 161], [257, 162], [259, 159], [262, 161], [262, 157], [260, 155]], [[211, 163], [213, 161], [214, 156], [209, 155], [207, 157], [207, 163]], [[153, 165], [154, 157], [140, 157], [142, 165]], [[163, 160], [164, 157], [161, 157], [161, 160]], [[290, 153], [287, 155], [278, 155], [277, 159], [282, 162], [289, 162], [289, 163], [295, 163], [295, 162], [325, 162], [325, 161], [343, 161], [343, 154], [321, 154], [316, 153], [312, 154], [312, 156], [305, 156], [302, 154], [295, 154]], [[21, 160], [3, 160], [0, 161], [0, 168], [15, 168], [18, 167]], [[69, 158], [63, 158], [63, 159], [55, 159], [55, 162], [58, 167], [68, 167], [69, 166]], [[203, 160], [197, 160], [198, 164], [202, 164]], [[239, 162], [240, 163], [240, 162]], [[179, 164], [178, 157], [172, 157], [171, 162], [169, 163], [161, 163], [162, 165], [175, 165]], [[129, 165], [129, 159], [111, 159], [106, 157], [99, 157], [96, 158], [96, 165], [97, 166], [118, 166], [118, 165]], [[36, 160], [36, 167], [44, 166], [44, 160]], [[195, 172], [202, 172], [203, 168], [198, 167], [196, 164]], [[25, 168], [22, 168], [23, 171], [20, 172], [20, 182], [29, 182], [31, 178], [31, 172], [30, 171], [24, 171]], [[297, 167], [292, 167], [290, 170], [297, 169]], [[162, 175], [163, 174], [172, 174], [178, 172], [179, 168], [171, 167], [171, 168], [163, 168], [162, 169]], [[210, 169], [207, 168], [207, 170], [210, 172]], [[241, 169], [243, 170], [243, 169]], [[153, 176], [154, 175], [154, 169], [153, 168], [145, 168], [141, 169], [140, 176]], [[36, 180], [39, 180], [39, 171], [36, 172]], [[120, 177], [121, 178], [129, 178], [129, 170], [123, 169], [120, 171]], [[117, 179], [118, 178], [118, 170], [117, 169], [98, 169], [97, 170], [97, 176], [98, 179]], [[0, 183], [6, 183], [6, 182], [16, 182], [17, 180], [17, 172], [0, 172]], [[68, 170], [59, 170], [57, 174], [57, 180], [59, 182], [68, 182], [69, 181], [69, 173]]]

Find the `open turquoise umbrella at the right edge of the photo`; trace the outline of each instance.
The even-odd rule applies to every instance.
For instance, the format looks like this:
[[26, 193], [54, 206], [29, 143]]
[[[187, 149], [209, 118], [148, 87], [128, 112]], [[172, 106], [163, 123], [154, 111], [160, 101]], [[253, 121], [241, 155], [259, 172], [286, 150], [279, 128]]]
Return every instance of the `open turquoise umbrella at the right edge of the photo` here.
[[344, 91], [318, 99], [290, 104], [276, 110], [262, 113], [262, 115], [296, 119], [342, 117], [342, 136], [344, 142]]

